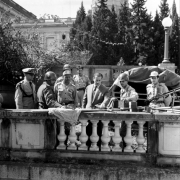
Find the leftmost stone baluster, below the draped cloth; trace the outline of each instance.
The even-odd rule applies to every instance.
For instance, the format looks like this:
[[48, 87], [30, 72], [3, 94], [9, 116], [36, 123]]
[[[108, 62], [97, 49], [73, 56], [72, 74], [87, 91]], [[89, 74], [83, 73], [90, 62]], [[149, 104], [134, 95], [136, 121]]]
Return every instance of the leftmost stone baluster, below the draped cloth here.
[[64, 132], [64, 122], [60, 121], [60, 132], [58, 135], [59, 145], [57, 149], [66, 149], [66, 145], [64, 144], [64, 141], [66, 140], [66, 134]]

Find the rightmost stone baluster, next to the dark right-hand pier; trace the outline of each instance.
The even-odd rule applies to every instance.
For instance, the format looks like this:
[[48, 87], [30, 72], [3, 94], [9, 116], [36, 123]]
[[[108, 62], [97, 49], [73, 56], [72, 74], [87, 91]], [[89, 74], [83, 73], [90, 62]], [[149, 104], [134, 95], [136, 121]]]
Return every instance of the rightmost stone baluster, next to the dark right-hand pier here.
[[138, 143], [138, 148], [136, 149], [136, 152], [140, 152], [140, 153], [144, 153], [145, 149], [143, 149], [143, 144], [145, 142], [145, 138], [143, 135], [143, 126], [144, 126], [144, 121], [137, 121], [137, 123], [139, 124], [139, 132], [138, 132], [138, 136], [137, 136], [137, 143]]

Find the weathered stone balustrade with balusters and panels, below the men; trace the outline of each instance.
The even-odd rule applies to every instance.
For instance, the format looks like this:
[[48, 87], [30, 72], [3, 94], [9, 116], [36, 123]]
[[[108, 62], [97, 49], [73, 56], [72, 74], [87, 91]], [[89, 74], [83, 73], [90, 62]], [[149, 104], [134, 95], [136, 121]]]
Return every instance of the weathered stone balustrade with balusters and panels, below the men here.
[[[83, 111], [79, 122], [81, 128], [77, 131], [75, 123], [69, 126], [49, 115], [48, 110], [1, 110], [0, 160], [81, 157], [159, 164], [179, 162], [179, 115]], [[136, 148], [132, 132], [137, 134]]]

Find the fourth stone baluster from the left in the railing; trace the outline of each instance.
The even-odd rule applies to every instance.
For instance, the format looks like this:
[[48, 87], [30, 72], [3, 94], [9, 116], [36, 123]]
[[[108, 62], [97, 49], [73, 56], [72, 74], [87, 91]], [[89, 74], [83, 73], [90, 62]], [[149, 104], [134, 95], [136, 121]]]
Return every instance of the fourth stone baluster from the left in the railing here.
[[91, 147], [90, 147], [90, 151], [99, 151], [99, 147], [97, 146], [97, 142], [99, 140], [99, 137], [97, 135], [97, 123], [98, 121], [93, 120], [92, 122], [92, 135], [90, 136], [90, 140], [91, 140]]

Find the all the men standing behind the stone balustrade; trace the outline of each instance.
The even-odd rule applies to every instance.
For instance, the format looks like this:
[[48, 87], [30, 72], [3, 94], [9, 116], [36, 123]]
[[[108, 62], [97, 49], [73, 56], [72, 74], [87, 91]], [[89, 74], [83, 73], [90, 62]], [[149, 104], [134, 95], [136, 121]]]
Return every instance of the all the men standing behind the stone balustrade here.
[[[95, 73], [93, 84], [89, 78], [83, 74], [83, 67], [77, 67], [77, 75], [72, 76], [71, 67], [66, 64], [63, 67], [63, 74], [57, 79], [56, 74], [48, 71], [44, 76], [44, 82], [39, 87], [37, 93], [32, 82], [35, 75], [35, 69], [26, 68], [22, 70], [24, 80], [16, 85], [15, 103], [17, 109], [48, 109], [48, 108], [88, 108], [105, 109], [111, 100], [109, 89], [102, 84], [103, 75]], [[151, 72], [151, 84], [147, 85], [147, 99], [157, 97], [168, 91], [163, 83], [159, 83], [159, 74]], [[118, 78], [121, 90], [120, 100], [126, 103], [138, 100], [138, 93], [128, 85], [129, 76], [127, 73], [120, 74]], [[150, 106], [169, 106], [171, 96], [160, 97], [151, 100]], [[37, 107], [38, 106], [38, 107]]]

